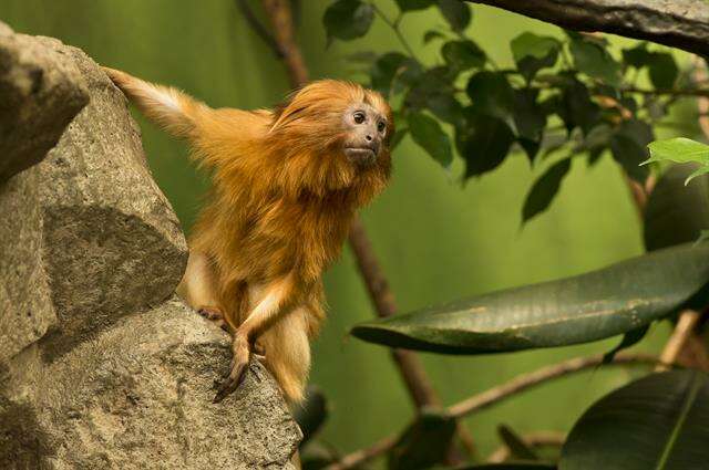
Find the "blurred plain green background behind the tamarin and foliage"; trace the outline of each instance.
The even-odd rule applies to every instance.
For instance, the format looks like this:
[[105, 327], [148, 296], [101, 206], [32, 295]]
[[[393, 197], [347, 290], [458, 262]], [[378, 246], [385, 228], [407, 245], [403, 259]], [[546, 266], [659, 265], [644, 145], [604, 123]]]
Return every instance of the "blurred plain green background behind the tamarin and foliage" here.
[[[364, 39], [326, 48], [320, 20], [328, 2], [301, 3], [299, 39], [312, 77], [363, 80], [346, 61], [348, 54], [400, 49], [379, 20]], [[378, 3], [395, 12], [393, 1]], [[508, 42], [520, 32], [559, 34], [557, 28], [502, 10], [475, 7], [474, 13], [469, 32], [503, 66], [512, 63]], [[288, 91], [281, 63], [251, 33], [235, 1], [2, 0], [0, 20], [18, 32], [59, 38], [101, 64], [177, 85], [213, 106], [267, 107]], [[402, 23], [429, 63], [441, 61], [439, 44], [421, 42], [434, 27], [444, 27], [435, 9], [407, 14]], [[182, 143], [136, 118], [154, 176], [188, 231], [206, 176], [188, 164]], [[637, 213], [608, 156], [593, 168], [575, 161], [552, 208], [524, 228], [521, 208], [542, 168], [532, 169], [522, 154], [462, 185], [460, 161], [449, 174], [405, 138], [394, 166], [391, 186], [362, 218], [402, 311], [576, 274], [643, 251]], [[387, 349], [347, 335], [352, 324], [373, 314], [349, 251], [329, 270], [326, 285], [329, 318], [314, 345], [311, 379], [331, 404], [322, 437], [348, 451], [398, 430], [413, 409]], [[667, 324], [656, 326], [637, 348], [658, 351], [668, 331]], [[443, 401], [452, 404], [544, 364], [605, 352], [616, 341], [499, 356], [421, 357]], [[596, 370], [564, 378], [465, 422], [487, 455], [499, 445], [496, 425], [520, 432], [568, 430], [585, 407], [629, 374]]]

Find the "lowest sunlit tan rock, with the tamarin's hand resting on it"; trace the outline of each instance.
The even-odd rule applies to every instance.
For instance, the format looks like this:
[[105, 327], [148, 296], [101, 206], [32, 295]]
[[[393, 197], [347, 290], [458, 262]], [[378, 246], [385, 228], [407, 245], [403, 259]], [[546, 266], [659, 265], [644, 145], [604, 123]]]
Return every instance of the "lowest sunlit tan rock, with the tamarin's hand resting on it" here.
[[228, 355], [226, 334], [177, 300], [51, 365], [29, 348], [0, 399], [0, 468], [291, 468], [300, 431], [260, 364], [210, 403]]

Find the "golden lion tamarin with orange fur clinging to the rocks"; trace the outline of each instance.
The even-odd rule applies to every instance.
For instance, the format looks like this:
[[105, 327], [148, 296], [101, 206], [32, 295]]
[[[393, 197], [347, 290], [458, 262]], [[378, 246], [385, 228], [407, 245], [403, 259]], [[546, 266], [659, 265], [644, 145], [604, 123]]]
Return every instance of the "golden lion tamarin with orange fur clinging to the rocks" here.
[[273, 111], [214, 109], [175, 88], [105, 71], [213, 171], [177, 292], [233, 336], [232, 365], [214, 401], [238, 387], [254, 351], [263, 351], [286, 398], [301, 400], [309, 338], [325, 316], [322, 271], [340, 253], [356, 209], [389, 179], [391, 108], [379, 93], [323, 80]]

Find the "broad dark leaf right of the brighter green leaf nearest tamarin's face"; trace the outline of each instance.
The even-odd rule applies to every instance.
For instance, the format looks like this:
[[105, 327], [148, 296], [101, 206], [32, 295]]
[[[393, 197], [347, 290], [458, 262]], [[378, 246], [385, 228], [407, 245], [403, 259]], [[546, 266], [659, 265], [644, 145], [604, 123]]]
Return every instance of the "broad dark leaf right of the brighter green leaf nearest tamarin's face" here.
[[510, 153], [514, 134], [502, 119], [466, 108], [465, 124], [455, 130], [458, 152], [465, 159], [465, 178], [496, 168]]

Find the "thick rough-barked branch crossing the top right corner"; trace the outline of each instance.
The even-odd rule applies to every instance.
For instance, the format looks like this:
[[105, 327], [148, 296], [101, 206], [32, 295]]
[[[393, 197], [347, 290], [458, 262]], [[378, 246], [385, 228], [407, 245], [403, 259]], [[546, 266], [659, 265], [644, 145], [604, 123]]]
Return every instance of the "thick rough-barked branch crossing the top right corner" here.
[[709, 55], [703, 0], [467, 0], [577, 31], [603, 31]]

